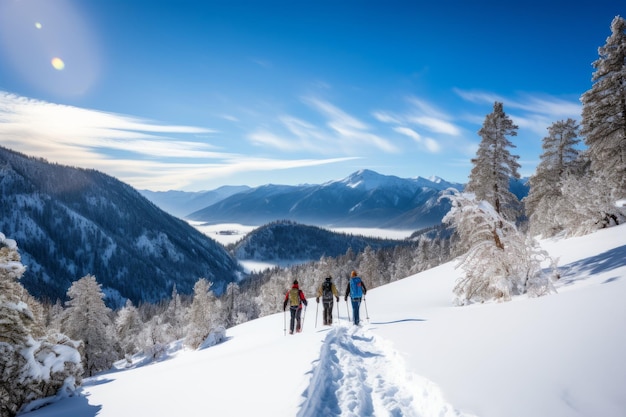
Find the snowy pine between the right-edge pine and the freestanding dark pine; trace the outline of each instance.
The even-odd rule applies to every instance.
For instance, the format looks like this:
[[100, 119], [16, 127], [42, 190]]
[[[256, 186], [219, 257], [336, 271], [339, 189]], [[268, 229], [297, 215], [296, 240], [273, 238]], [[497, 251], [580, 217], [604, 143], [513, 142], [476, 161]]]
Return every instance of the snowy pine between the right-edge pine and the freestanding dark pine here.
[[578, 130], [575, 120], [561, 120], [548, 127], [548, 136], [543, 138], [541, 161], [530, 177], [530, 191], [524, 199], [533, 235], [554, 236], [563, 228], [564, 219], [558, 206], [563, 180], [573, 175], [579, 164]]

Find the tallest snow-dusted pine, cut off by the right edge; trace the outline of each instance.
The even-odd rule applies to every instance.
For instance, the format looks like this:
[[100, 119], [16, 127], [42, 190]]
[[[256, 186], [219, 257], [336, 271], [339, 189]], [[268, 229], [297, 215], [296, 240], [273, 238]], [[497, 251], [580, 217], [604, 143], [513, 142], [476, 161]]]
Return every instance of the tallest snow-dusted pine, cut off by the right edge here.
[[[598, 48], [593, 85], [581, 101], [582, 134], [591, 170], [601, 179], [602, 192], [613, 201], [626, 198], [626, 20], [616, 16], [611, 35]], [[620, 213], [610, 213], [615, 221]]]

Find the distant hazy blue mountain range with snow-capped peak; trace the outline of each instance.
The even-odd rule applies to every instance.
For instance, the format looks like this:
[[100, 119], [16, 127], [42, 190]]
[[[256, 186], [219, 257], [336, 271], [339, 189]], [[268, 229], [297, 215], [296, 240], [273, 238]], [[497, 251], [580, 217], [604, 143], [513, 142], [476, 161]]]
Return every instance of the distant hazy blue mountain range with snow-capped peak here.
[[435, 177], [399, 178], [360, 170], [321, 185], [263, 185], [233, 194], [187, 216], [207, 223], [262, 225], [278, 220], [332, 227], [421, 229], [441, 223], [440, 200], [463, 185]]

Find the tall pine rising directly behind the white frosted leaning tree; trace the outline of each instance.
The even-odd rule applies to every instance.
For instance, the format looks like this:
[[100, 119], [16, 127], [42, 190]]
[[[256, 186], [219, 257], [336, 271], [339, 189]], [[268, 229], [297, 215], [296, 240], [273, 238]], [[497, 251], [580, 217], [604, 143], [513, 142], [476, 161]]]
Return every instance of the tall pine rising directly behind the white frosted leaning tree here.
[[517, 136], [517, 126], [504, 112], [502, 103], [495, 102], [493, 112], [485, 117], [478, 131], [482, 140], [478, 146], [474, 167], [470, 172], [465, 190], [476, 194], [477, 200], [485, 200], [507, 220], [515, 220], [520, 212], [520, 202], [509, 191], [511, 177], [519, 178], [519, 156], [512, 155], [509, 148], [515, 145], [507, 136]]

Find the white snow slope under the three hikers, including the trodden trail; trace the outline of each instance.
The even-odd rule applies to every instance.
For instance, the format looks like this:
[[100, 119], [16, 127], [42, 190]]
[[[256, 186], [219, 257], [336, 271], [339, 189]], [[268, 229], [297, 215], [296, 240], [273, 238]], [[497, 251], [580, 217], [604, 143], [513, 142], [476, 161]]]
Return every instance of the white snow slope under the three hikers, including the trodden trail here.
[[361, 327], [343, 299], [316, 325], [310, 297], [302, 333], [267, 316], [25, 415], [623, 417], [626, 227], [541, 244], [558, 294], [454, 307], [448, 263], [368, 291]]

